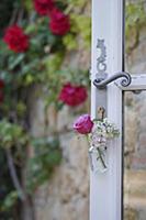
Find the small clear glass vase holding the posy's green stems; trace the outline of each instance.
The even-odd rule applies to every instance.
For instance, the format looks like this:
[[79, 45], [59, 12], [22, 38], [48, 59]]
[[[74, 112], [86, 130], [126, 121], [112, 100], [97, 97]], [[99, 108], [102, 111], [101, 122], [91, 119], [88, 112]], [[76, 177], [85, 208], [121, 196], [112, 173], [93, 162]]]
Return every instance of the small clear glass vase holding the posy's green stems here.
[[93, 173], [104, 173], [108, 170], [106, 145], [99, 144], [89, 148], [90, 167]]

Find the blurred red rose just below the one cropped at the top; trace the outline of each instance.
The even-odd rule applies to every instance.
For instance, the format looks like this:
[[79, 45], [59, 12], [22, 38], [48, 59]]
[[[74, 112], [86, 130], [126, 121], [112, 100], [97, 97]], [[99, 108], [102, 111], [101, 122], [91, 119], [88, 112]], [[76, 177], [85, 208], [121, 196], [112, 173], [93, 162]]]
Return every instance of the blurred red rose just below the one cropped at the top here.
[[54, 8], [49, 16], [49, 29], [53, 34], [65, 35], [70, 30], [69, 16], [65, 15], [59, 9]]

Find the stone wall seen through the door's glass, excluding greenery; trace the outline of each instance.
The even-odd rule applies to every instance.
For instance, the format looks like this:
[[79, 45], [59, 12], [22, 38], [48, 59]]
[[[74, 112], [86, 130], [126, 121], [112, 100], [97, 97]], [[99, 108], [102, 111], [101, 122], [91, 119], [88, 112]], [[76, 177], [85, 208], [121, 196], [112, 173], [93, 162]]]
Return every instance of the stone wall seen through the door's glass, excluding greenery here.
[[[146, 74], [146, 28], [126, 57], [126, 70]], [[146, 219], [146, 91], [125, 92], [124, 220]]]

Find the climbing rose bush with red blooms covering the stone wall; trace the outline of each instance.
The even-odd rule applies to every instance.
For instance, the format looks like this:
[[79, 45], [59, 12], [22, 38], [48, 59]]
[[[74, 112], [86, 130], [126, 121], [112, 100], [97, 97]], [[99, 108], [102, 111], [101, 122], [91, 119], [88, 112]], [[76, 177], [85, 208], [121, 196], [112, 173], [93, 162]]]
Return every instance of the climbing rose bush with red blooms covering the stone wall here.
[[[86, 3], [83, 2], [83, 6]], [[0, 41], [0, 147], [4, 150], [9, 145], [14, 163], [18, 162], [19, 155], [20, 166], [16, 164], [16, 167], [21, 172], [27, 154], [26, 146], [32, 147], [34, 152], [37, 146], [38, 152], [33, 158], [29, 158], [30, 164], [27, 163], [29, 169], [24, 179], [26, 194], [33, 194], [40, 185], [48, 180], [61, 158], [58, 131], [54, 133], [49, 127], [50, 132], [41, 140], [35, 140], [30, 133], [29, 116], [33, 97], [31, 94], [35, 94], [38, 86], [41, 92], [36, 92], [36, 96], [43, 99], [45, 110], [52, 105], [56, 111], [64, 105], [76, 107], [87, 99], [88, 69], [82, 66], [72, 68], [69, 63], [63, 65], [68, 52], [78, 53], [78, 43], [81, 42], [81, 50], [87, 50], [87, 42], [89, 44], [90, 18], [82, 14], [83, 6], [80, 6], [79, 10], [74, 0], [29, 0], [23, 3], [14, 0], [14, 11], [9, 21], [11, 26], [2, 33], [4, 36], [3, 41]], [[47, 117], [46, 111], [42, 113]], [[44, 124], [44, 130], [47, 125]], [[48, 143], [48, 135], [53, 135], [52, 143]], [[34, 168], [36, 162], [37, 172]], [[18, 180], [23, 189], [20, 175]], [[8, 197], [11, 196], [11, 190], [9, 191]], [[11, 207], [16, 200], [18, 197]], [[4, 201], [7, 198], [0, 202], [0, 209]]]

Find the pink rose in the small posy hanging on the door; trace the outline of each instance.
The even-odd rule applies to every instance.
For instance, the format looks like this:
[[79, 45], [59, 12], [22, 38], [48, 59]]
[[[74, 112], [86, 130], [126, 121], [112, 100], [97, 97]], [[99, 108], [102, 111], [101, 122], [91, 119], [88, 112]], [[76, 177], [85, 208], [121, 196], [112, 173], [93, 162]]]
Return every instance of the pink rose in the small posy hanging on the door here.
[[90, 133], [92, 128], [93, 128], [93, 122], [91, 121], [89, 114], [83, 114], [79, 117], [74, 123], [74, 129], [78, 131], [80, 134]]

